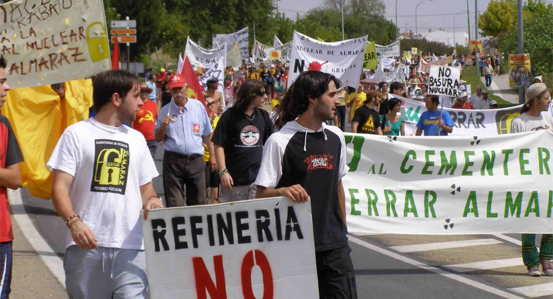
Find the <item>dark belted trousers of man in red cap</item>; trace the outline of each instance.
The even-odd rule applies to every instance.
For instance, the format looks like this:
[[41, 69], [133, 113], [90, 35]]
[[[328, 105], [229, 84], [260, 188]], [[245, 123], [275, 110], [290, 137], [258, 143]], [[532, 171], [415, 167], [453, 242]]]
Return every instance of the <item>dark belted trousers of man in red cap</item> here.
[[205, 162], [201, 155], [182, 155], [174, 151], [163, 154], [163, 191], [168, 208], [184, 207], [205, 202]]

